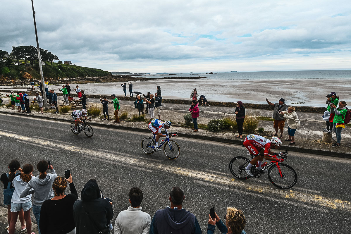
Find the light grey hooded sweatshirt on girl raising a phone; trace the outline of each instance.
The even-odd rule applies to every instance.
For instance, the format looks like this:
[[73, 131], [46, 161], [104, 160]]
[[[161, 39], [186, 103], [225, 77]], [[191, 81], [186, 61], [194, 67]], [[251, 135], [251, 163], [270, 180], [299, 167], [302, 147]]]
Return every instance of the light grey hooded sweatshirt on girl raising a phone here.
[[39, 175], [37, 175], [37, 177], [28, 182], [25, 189], [21, 192], [20, 198], [24, 198], [25, 196], [34, 193], [33, 206], [41, 206], [45, 200], [52, 199], [54, 197], [52, 183], [56, 177], [57, 174], [55, 169], [51, 170], [51, 174], [46, 174], [44, 179], [39, 179]]

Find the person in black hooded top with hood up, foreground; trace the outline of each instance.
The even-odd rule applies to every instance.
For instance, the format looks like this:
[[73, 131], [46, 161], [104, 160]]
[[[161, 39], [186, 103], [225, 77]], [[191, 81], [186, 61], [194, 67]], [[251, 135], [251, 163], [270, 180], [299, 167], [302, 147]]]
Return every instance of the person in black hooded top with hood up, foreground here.
[[86, 233], [110, 233], [108, 223], [113, 218], [111, 203], [101, 198], [100, 189], [96, 180], [89, 180], [80, 193], [82, 200], [73, 205], [73, 217], [75, 232]]

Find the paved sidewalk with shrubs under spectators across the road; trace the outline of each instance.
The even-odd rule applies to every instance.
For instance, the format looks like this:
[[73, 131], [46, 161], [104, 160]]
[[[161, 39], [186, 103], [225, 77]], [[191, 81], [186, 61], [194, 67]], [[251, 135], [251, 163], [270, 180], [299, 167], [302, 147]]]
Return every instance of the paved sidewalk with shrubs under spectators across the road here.
[[[61, 103], [62, 97], [59, 96], [59, 102]], [[87, 108], [91, 105], [98, 105], [102, 107], [100, 100], [99, 99], [92, 99], [89, 98], [87, 99]], [[4, 99], [4, 103], [8, 103], [7, 99]], [[138, 109], [134, 109], [134, 104], [133, 101], [126, 101], [126, 100], [121, 100], [120, 101], [121, 109], [122, 110], [127, 110], [128, 111], [128, 117], [131, 117], [132, 114], [138, 114]], [[113, 106], [109, 105], [108, 106], [108, 112], [110, 114], [110, 118], [114, 118], [113, 115]], [[170, 119], [175, 123], [175, 125], [181, 125], [184, 124], [185, 120], [183, 118], [183, 115], [188, 112], [188, 109], [190, 106], [185, 105], [185, 104], [174, 104], [174, 103], [164, 103], [163, 104], [163, 109], [161, 111], [161, 119], [167, 120]], [[204, 107], [204, 106], [199, 106], [200, 109], [200, 116], [198, 118], [198, 123], [201, 124], [207, 124], [208, 121], [211, 119], [220, 119], [224, 115], [233, 115], [234, 114], [234, 108], [232, 107]], [[4, 111], [7, 113], [15, 113], [16, 110], [11, 110], [11, 108], [0, 108], [0, 111]], [[65, 119], [65, 120], [72, 120], [71, 118], [71, 113], [67, 114], [53, 114], [53, 110], [49, 109], [49, 111], [43, 115], [40, 115], [40, 117], [47, 117], [47, 118], [59, 118], [59, 119]], [[273, 111], [270, 110], [257, 110], [257, 109], [246, 109], [246, 113], [255, 113], [255, 115], [258, 116], [268, 116], [271, 117]], [[22, 114], [21, 115], [28, 115], [28, 114]], [[102, 112], [101, 112], [102, 114]], [[283, 138], [283, 148], [287, 149], [292, 149], [293, 151], [299, 151], [299, 152], [310, 152], [316, 151], [318, 154], [318, 151], [324, 151], [324, 152], [329, 152], [328, 155], [330, 156], [340, 156], [340, 153], [347, 153], [350, 154], [349, 149], [351, 147], [350, 139], [351, 139], [351, 128], [346, 127], [342, 131], [342, 146], [341, 147], [331, 147], [331, 143], [325, 143], [322, 142], [322, 136], [323, 136], [323, 128], [325, 127], [325, 121], [322, 120], [321, 116], [322, 114], [318, 113], [306, 113], [306, 112], [301, 112], [297, 113], [299, 116], [299, 119], [301, 121], [301, 126], [298, 128], [295, 138], [296, 138], [296, 145], [294, 146], [289, 146], [289, 142], [284, 141], [287, 139], [287, 124], [285, 124], [285, 129], [284, 129], [284, 138]], [[38, 115], [39, 112], [32, 112], [32, 115]], [[60, 116], [60, 117], [59, 117]], [[150, 115], [146, 114], [146, 117], [149, 118]], [[103, 117], [102, 117], [103, 118]], [[155, 118], [158, 118], [155, 115]], [[106, 125], [106, 127], [112, 126], [112, 125], [118, 125], [120, 127], [134, 127], [140, 129], [147, 129], [147, 123], [145, 122], [128, 122], [128, 121], [121, 121], [121, 123], [115, 124], [113, 121], [103, 121], [102, 119], [99, 118], [92, 118], [92, 122], [99, 124], [99, 125]], [[260, 121], [259, 127], [263, 127], [266, 131], [271, 131], [273, 132], [273, 121]], [[198, 132], [193, 132], [190, 128], [184, 128], [184, 127], [176, 127], [172, 126], [172, 132], [179, 132], [181, 134], [186, 134], [187, 137], [193, 137], [193, 138], [200, 138], [202, 139], [208, 138], [217, 138], [217, 140], [221, 141], [220, 139], [223, 139], [224, 142], [236, 142], [240, 143], [238, 138], [236, 138], [236, 132], [232, 131], [222, 131], [220, 133], [213, 133], [210, 131], [207, 131], [205, 129], [199, 129]], [[279, 133], [278, 133], [279, 134]], [[279, 134], [280, 135], [280, 134]], [[245, 137], [245, 134], [244, 134]], [[333, 135], [335, 138], [335, 133]], [[312, 151], [311, 151], [312, 150]], [[327, 154], [327, 153], [322, 153], [319, 152], [320, 154]]]

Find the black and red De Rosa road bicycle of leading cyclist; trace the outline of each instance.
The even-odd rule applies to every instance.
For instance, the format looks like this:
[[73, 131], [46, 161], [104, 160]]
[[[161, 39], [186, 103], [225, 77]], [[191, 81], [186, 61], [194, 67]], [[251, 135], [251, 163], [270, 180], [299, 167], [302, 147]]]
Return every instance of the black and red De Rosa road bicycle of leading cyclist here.
[[[229, 163], [230, 172], [240, 180], [247, 180], [251, 178], [251, 176], [249, 176], [245, 172], [245, 168], [254, 158], [254, 155], [251, 154], [250, 151], [246, 151], [246, 152], [247, 152], [247, 155], [251, 156], [251, 159], [248, 159], [243, 156], [237, 156], [233, 158]], [[275, 157], [272, 155], [268, 155], [268, 156]], [[279, 156], [282, 159], [285, 159], [286, 161], [287, 150], [285, 151], [285, 153], [280, 152], [277, 156]], [[269, 168], [267, 172], [267, 176], [269, 181], [274, 186], [281, 189], [289, 189], [294, 187], [294, 185], [296, 185], [297, 174], [291, 166], [285, 163], [276, 162], [276, 161], [271, 161], [269, 163], [265, 162], [261, 166], [262, 166], [262, 169], [258, 171], [257, 170], [258, 163], [256, 163], [256, 165], [252, 165], [250, 171], [254, 178], [260, 178], [261, 174], [265, 173], [264, 170]]]

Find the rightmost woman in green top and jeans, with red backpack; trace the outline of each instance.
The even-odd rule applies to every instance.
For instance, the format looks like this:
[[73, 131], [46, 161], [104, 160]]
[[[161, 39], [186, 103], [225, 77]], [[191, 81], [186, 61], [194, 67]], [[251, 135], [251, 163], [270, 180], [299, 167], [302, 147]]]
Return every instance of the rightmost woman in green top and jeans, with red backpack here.
[[344, 120], [347, 112], [347, 104], [345, 101], [339, 102], [339, 107], [337, 108], [334, 104], [331, 105], [331, 108], [334, 108], [335, 116], [333, 119], [334, 131], [336, 134], [336, 143], [333, 143], [333, 147], [340, 147], [341, 141], [341, 130], [345, 128]]

